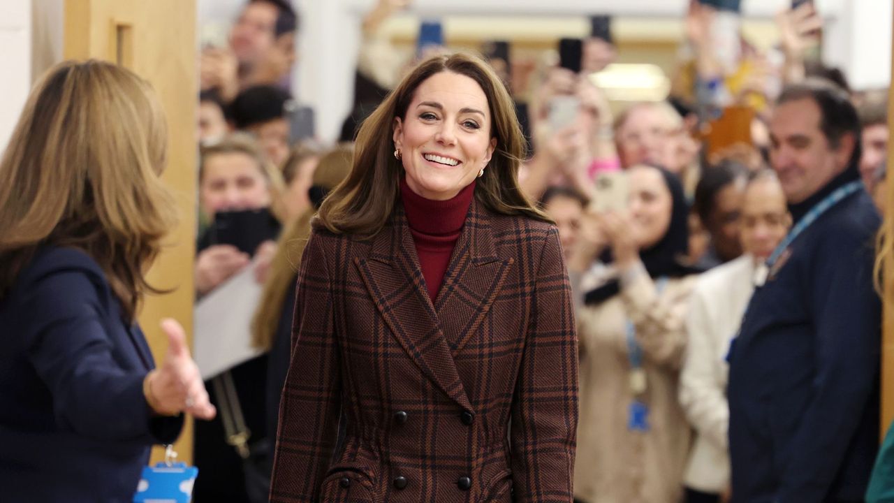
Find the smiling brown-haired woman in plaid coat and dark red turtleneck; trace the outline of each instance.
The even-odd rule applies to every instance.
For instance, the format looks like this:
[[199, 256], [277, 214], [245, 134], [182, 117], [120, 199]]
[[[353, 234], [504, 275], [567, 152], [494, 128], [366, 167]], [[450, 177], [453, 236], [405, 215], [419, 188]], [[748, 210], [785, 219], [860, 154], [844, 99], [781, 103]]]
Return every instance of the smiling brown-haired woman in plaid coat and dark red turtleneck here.
[[427, 59], [362, 125], [302, 258], [272, 501], [571, 499], [573, 309], [523, 141], [468, 55]]

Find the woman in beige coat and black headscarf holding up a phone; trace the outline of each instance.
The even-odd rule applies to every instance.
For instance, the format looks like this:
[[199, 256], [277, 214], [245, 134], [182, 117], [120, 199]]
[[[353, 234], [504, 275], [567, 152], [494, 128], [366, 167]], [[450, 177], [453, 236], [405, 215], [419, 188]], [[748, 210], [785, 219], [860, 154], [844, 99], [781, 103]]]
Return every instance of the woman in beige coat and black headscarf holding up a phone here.
[[582, 280], [575, 495], [587, 503], [676, 503], [690, 430], [677, 401], [695, 276], [676, 176], [628, 170], [629, 203], [595, 225], [610, 246]]

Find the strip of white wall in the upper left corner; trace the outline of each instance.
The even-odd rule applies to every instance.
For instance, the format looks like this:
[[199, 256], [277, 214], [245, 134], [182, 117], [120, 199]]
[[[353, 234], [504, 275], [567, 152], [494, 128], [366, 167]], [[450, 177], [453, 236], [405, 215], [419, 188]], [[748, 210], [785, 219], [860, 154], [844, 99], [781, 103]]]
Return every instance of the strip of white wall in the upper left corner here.
[[31, 3], [0, 2], [0, 151], [19, 120], [31, 86]]

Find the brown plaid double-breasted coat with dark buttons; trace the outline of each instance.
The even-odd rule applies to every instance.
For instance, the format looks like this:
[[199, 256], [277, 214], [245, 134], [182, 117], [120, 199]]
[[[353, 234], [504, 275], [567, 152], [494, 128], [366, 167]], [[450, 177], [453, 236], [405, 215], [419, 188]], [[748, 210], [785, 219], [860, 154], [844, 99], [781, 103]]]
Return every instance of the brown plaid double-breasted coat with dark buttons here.
[[578, 345], [555, 227], [473, 200], [432, 303], [396, 206], [372, 238], [316, 231], [304, 252], [271, 501], [569, 502]]

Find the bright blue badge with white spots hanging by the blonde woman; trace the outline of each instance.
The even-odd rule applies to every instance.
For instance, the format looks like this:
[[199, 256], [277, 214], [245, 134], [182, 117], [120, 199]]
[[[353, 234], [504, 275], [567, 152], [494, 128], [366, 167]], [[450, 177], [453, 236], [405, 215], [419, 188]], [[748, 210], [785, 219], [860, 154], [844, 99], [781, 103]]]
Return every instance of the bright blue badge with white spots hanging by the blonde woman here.
[[176, 456], [168, 446], [163, 462], [143, 468], [133, 503], [190, 503], [198, 468], [174, 463]]

